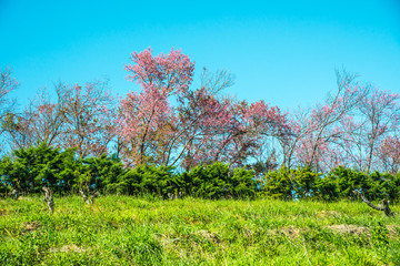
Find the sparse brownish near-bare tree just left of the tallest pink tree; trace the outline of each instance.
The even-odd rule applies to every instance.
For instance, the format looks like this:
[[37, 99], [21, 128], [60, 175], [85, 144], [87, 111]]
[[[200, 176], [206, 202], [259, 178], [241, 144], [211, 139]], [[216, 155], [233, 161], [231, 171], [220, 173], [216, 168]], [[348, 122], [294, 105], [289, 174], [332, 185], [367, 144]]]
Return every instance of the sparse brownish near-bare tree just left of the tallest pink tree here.
[[64, 131], [62, 144], [78, 149], [80, 157], [101, 155], [114, 139], [114, 100], [107, 81], [84, 86], [59, 83], [56, 85]]

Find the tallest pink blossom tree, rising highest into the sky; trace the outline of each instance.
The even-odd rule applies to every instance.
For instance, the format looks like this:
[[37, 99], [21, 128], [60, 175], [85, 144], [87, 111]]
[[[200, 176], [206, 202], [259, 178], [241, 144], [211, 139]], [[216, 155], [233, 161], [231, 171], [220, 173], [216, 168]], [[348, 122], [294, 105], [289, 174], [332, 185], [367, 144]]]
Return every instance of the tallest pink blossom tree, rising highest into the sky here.
[[182, 101], [192, 82], [194, 63], [173, 49], [169, 54], [153, 57], [150, 48], [132, 53], [131, 61], [126, 65], [128, 79], [137, 82], [141, 91], [132, 91], [121, 101], [118, 122], [123, 154], [134, 165], [168, 164], [169, 140], [179, 131], [170, 98]]

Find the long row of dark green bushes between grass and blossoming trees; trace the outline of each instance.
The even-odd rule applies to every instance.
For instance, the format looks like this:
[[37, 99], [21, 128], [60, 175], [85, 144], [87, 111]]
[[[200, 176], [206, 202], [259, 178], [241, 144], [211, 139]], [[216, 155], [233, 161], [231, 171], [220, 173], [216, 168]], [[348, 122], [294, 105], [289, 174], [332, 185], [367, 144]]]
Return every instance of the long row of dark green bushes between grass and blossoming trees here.
[[400, 175], [366, 174], [338, 167], [327, 175], [310, 167], [284, 166], [256, 177], [251, 168], [233, 168], [213, 163], [177, 173], [167, 166], [141, 165], [124, 168], [113, 156], [77, 158], [74, 150], [61, 151], [46, 144], [16, 150], [0, 161], [0, 191], [7, 194], [40, 193], [43, 186], [59, 194], [74, 193], [82, 186], [100, 193], [152, 194], [163, 198], [194, 196], [203, 198], [276, 197], [281, 200], [349, 198], [353, 190], [369, 200], [399, 200]]

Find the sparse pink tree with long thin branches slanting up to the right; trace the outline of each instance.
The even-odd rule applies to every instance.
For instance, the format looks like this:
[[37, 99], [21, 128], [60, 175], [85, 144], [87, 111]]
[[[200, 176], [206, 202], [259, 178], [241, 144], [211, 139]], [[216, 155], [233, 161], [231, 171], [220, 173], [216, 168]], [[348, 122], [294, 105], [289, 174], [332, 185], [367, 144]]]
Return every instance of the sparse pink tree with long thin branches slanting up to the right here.
[[322, 171], [323, 165], [332, 167], [342, 163], [334, 156], [341, 151], [333, 144], [347, 137], [348, 131], [341, 125], [351, 121], [352, 112], [369, 92], [369, 86], [357, 82], [356, 78], [344, 70], [337, 71], [337, 91], [333, 94], [312, 110], [294, 112], [291, 121], [294, 134], [281, 142], [287, 166], [291, 167], [296, 160], [300, 165]]

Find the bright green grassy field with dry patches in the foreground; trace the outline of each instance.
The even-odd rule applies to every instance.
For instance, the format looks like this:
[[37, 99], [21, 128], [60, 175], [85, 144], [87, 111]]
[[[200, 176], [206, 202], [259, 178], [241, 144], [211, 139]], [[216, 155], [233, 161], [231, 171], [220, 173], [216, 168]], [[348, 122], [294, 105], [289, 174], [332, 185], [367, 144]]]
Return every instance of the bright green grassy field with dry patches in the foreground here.
[[0, 265], [400, 265], [400, 217], [362, 203], [54, 202], [0, 200]]

